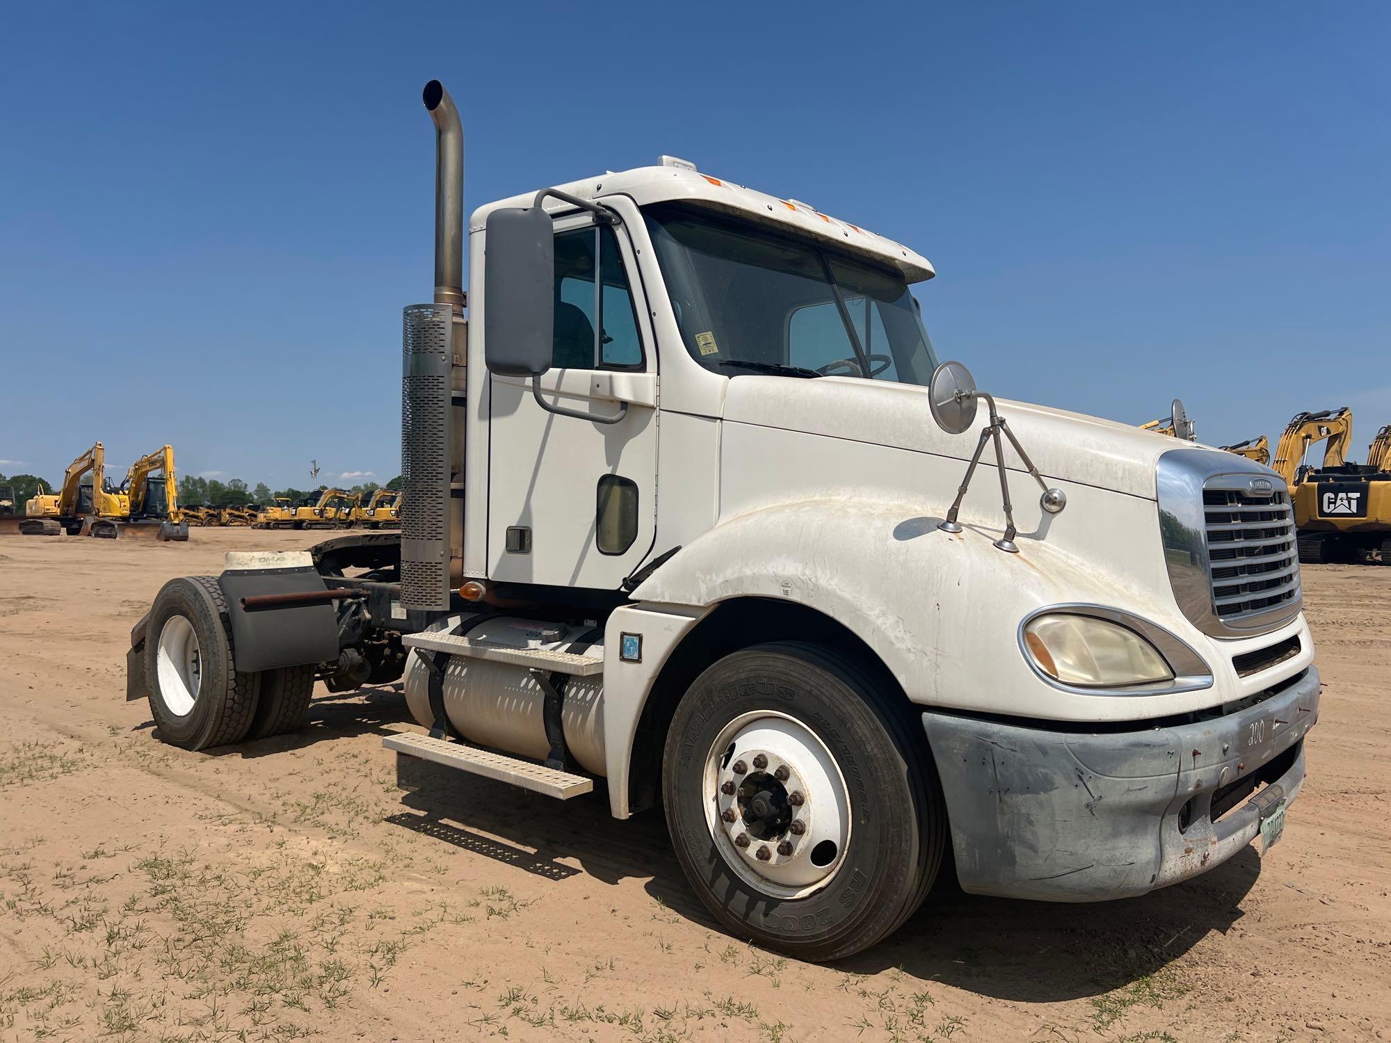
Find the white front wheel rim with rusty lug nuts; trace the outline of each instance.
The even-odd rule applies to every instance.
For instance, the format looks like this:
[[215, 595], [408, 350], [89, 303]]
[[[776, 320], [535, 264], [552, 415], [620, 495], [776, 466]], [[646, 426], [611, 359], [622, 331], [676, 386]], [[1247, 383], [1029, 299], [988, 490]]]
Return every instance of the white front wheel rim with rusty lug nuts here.
[[811, 894], [844, 861], [846, 780], [826, 744], [786, 713], [753, 711], [729, 722], [705, 758], [702, 797], [725, 861], [764, 894]]

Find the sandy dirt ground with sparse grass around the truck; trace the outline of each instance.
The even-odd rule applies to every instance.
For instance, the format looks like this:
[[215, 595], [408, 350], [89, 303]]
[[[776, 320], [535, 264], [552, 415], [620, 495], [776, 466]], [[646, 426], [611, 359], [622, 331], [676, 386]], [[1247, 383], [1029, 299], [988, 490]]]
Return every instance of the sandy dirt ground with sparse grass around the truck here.
[[939, 889], [812, 967], [732, 940], [651, 812], [442, 770], [388, 688], [211, 754], [125, 702], [164, 580], [309, 534], [0, 540], [0, 1040], [1391, 1037], [1391, 569], [1305, 572], [1323, 669], [1284, 840], [1131, 901]]

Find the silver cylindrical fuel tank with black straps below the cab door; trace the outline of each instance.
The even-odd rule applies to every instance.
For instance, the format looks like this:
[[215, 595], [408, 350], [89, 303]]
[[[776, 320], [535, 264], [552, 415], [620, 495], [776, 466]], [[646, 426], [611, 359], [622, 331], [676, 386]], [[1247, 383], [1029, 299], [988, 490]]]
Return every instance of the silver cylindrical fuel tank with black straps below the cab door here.
[[[517, 616], [448, 616], [430, 631], [463, 634], [472, 642], [499, 648], [580, 652], [602, 648], [600, 626], [569, 626]], [[604, 676], [552, 676], [565, 683], [561, 720], [565, 744], [576, 762], [591, 775], [604, 766]], [[406, 662], [406, 704], [410, 715], [430, 727], [430, 672], [412, 655]], [[449, 656], [444, 674], [444, 709], [449, 723], [467, 741], [516, 757], [544, 761], [551, 750], [545, 738], [545, 693], [531, 669], [462, 655]]]

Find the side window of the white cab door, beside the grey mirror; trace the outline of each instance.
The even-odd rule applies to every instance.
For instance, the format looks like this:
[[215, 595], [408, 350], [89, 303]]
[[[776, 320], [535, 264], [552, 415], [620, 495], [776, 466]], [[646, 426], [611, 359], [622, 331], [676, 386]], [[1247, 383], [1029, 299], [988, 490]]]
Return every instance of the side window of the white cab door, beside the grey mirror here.
[[554, 348], [558, 369], [643, 367], [633, 293], [606, 225], [555, 236]]

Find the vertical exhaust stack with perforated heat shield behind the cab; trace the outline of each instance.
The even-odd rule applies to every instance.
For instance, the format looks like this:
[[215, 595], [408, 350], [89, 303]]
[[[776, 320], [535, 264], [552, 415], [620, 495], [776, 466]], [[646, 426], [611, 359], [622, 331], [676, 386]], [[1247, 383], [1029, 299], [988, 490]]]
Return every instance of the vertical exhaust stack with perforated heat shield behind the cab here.
[[438, 79], [421, 92], [435, 125], [433, 305], [403, 314], [401, 382], [401, 605], [449, 608], [463, 572], [463, 125]]

